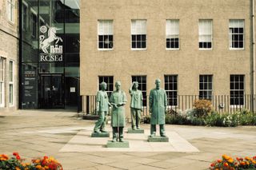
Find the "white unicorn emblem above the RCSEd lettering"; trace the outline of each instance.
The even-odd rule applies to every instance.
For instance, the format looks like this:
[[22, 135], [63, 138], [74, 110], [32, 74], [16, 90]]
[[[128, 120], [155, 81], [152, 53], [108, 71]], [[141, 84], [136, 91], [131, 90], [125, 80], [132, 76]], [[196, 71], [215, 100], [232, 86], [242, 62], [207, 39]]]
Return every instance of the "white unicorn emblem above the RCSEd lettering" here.
[[[40, 35], [40, 49], [42, 49], [43, 53], [48, 53], [47, 48], [50, 46], [50, 53], [62, 53], [62, 45], [58, 45], [58, 42], [62, 41], [62, 38], [56, 36], [57, 30], [62, 30], [58, 29], [56, 27], [50, 27], [48, 30], [48, 38], [46, 38], [44, 35]], [[42, 34], [45, 34], [47, 32], [47, 27], [46, 26], [41, 26], [40, 27], [40, 32]], [[56, 41], [57, 40], [57, 41]], [[55, 42], [55, 45], [51, 45], [51, 42]]]

